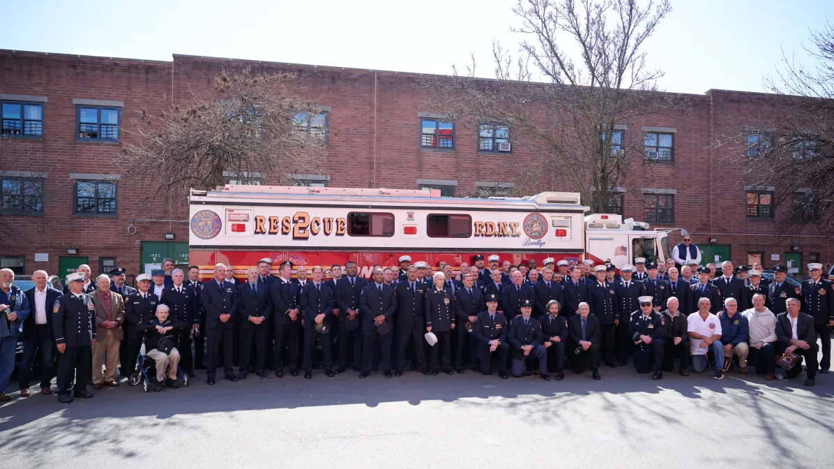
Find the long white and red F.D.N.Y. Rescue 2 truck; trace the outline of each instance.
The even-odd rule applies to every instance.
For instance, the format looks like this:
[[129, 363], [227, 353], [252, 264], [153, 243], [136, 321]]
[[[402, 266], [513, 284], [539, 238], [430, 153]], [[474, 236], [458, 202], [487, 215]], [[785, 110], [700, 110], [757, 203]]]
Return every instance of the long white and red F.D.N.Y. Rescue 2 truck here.
[[189, 204], [189, 258], [203, 279], [218, 263], [244, 279], [263, 258], [273, 260], [274, 274], [284, 260], [308, 270], [354, 261], [359, 275], [370, 277], [374, 265], [399, 268], [400, 255], [435, 270], [442, 260], [455, 273], [478, 254], [513, 265], [535, 259], [540, 267], [548, 257], [610, 259], [619, 267], [671, 255], [666, 232], [615, 214], [585, 216], [580, 194], [569, 192], [460, 199], [441, 198], [437, 189], [232, 184], [192, 190]]

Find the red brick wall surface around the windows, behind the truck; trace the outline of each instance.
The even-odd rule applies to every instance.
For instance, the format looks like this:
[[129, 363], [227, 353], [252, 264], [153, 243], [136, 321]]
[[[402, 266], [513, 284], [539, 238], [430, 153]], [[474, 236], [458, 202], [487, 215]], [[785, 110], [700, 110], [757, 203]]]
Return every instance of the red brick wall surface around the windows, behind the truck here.
[[[125, 214], [142, 209], [146, 219], [185, 219], [187, 201], [141, 208], [136, 200], [142, 197], [143, 188], [124, 183], [118, 186], [118, 217], [73, 214], [69, 174], [115, 174], [113, 161], [122, 149], [122, 144], [76, 142], [73, 98], [123, 101], [121, 122], [129, 130], [139, 109], [158, 113], [172, 97], [174, 103], [188, 103], [211, 88], [214, 76], [224, 68], [244, 66], [254, 72], [297, 73], [306, 97], [329, 106], [329, 156], [324, 174], [330, 177], [330, 186], [416, 189], [417, 179], [452, 179], [458, 181], [456, 194], [474, 194], [477, 181], [517, 183], [524, 180], [526, 168], [541, 161], [535, 144], [519, 138], [513, 139], [512, 154], [480, 153], [476, 130], [462, 123], [455, 127], [454, 150], [420, 149], [418, 113], [427, 110], [422, 105], [426, 96], [425, 90], [415, 87], [414, 74], [184, 55], [174, 55], [172, 62], [157, 62], [0, 51], [0, 94], [48, 98], [43, 139], [4, 142], [16, 161], [13, 168], [3, 168], [48, 174], [44, 213], [5, 215], [20, 236], [0, 244], [0, 255], [26, 255], [26, 273], [31, 274], [36, 269], [57, 270], [58, 256], [66, 255], [68, 247], [78, 247], [80, 255], [90, 257], [94, 271], [98, 257], [116, 256], [118, 265], [136, 272], [141, 241], [163, 240], [172, 224], [135, 222], [137, 233], [129, 235], [130, 219]], [[831, 262], [826, 238], [772, 236], [771, 222], [746, 219], [743, 175], [726, 164], [732, 152], [741, 149], [715, 145], [721, 136], [736, 132], [748, 121], [752, 124], [766, 112], [762, 96], [715, 90], [682, 95], [691, 104], [686, 113], [646, 115], [625, 123], [629, 126], [626, 139], [641, 139], [641, 128], [646, 126], [676, 129], [673, 164], [631, 162], [625, 179], [625, 216], [643, 219], [641, 189], [674, 189], [675, 226], [693, 232], [699, 245], [706, 245], [710, 236], [717, 237], [719, 244], [732, 245], [736, 264], [746, 263], [748, 251], [765, 251], [765, 264], [772, 265], [771, 253], [783, 254], [791, 245], [801, 246], [803, 262], [810, 252], [819, 252], [823, 262]], [[123, 133], [123, 141], [130, 139]], [[571, 189], [559, 174], [550, 174], [539, 183], [543, 189]], [[187, 229], [185, 223], [173, 223], [177, 240], [188, 240]], [[35, 252], [49, 253], [49, 262], [34, 262]]]

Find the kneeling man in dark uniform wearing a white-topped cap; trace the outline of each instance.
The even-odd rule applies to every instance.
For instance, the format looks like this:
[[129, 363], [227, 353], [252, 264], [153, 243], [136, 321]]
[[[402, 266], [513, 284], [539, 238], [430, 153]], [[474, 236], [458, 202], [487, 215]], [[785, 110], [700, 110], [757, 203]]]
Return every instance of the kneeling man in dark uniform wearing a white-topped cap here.
[[629, 335], [634, 341], [634, 366], [638, 373], [654, 369], [652, 380], [663, 377], [663, 352], [666, 343], [666, 316], [658, 314], [652, 306], [652, 297], [641, 296], [640, 310], [631, 314]]

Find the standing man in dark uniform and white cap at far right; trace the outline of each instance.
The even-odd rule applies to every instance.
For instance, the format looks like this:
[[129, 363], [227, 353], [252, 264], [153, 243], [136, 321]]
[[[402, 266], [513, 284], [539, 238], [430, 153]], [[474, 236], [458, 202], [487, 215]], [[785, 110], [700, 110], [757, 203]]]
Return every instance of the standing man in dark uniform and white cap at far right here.
[[802, 312], [814, 318], [814, 330], [822, 342], [820, 373], [831, 368], [831, 326], [834, 326], [834, 290], [831, 280], [823, 280], [822, 265], [808, 265], [811, 278], [802, 282]]

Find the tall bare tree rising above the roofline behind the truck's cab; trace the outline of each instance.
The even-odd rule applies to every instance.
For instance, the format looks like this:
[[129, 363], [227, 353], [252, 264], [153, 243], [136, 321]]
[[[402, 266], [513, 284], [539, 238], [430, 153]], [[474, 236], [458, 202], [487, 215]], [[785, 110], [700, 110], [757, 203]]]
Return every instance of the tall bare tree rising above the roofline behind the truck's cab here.
[[[422, 78], [420, 86], [431, 90], [426, 105], [470, 129], [495, 123], [501, 132], [527, 137], [531, 153], [542, 156], [519, 175], [521, 192], [550, 189], [542, 181], [556, 181], [592, 200], [595, 211], [607, 211], [615, 188], [625, 185], [632, 155], [645, 158], [645, 135], [635, 132], [645, 116], [683, 117], [690, 106], [686, 98], [660, 93], [663, 73], [646, 64], [646, 40], [671, 4], [517, 2], [514, 31], [525, 38], [520, 57], [494, 43], [493, 80], [475, 78], [474, 58], [466, 73], [455, 68], [450, 77]], [[629, 139], [620, 132], [625, 128]]]

